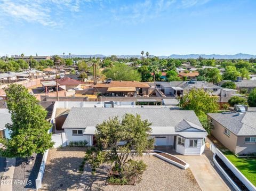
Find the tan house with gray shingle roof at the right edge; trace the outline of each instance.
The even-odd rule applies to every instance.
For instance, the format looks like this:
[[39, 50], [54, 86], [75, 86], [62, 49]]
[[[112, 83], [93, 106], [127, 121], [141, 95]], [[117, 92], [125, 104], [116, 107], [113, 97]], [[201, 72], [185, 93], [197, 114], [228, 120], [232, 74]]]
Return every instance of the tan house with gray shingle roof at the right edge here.
[[256, 153], [256, 112], [208, 113], [211, 134], [238, 155]]

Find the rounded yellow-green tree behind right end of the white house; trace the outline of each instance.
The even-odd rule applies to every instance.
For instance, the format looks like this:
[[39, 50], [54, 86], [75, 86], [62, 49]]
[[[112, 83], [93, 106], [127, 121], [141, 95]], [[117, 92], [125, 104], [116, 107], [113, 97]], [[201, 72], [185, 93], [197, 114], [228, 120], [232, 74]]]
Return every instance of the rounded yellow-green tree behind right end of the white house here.
[[193, 88], [180, 99], [183, 110], [194, 110], [197, 116], [214, 113], [219, 109], [218, 97], [211, 96], [204, 89]]

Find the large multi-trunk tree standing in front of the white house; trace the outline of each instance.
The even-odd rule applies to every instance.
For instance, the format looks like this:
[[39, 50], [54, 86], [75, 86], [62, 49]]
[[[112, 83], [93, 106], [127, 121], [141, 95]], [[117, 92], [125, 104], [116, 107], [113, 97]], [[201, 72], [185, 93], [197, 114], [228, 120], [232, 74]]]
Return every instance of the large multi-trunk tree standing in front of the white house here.
[[[118, 178], [129, 179], [132, 171], [142, 173], [146, 164], [129, 160], [129, 156], [141, 156], [153, 149], [154, 139], [149, 139], [151, 123], [141, 120], [140, 115], [125, 114], [122, 120], [110, 118], [96, 126], [97, 147], [87, 152], [87, 158], [95, 170], [103, 162], [114, 162], [113, 171]], [[121, 144], [120, 144], [121, 143]]]

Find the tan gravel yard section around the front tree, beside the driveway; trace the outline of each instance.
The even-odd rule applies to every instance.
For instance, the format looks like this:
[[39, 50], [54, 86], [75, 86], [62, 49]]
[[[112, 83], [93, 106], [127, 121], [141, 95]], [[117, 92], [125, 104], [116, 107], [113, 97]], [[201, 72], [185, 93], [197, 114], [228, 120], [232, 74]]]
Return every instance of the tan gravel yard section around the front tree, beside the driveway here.
[[82, 190], [201, 190], [190, 170], [182, 170], [155, 156], [138, 157], [147, 165], [143, 173], [143, 180], [137, 185], [105, 185], [108, 166], [102, 167], [95, 176], [91, 175], [89, 165], [79, 182], [79, 191]]

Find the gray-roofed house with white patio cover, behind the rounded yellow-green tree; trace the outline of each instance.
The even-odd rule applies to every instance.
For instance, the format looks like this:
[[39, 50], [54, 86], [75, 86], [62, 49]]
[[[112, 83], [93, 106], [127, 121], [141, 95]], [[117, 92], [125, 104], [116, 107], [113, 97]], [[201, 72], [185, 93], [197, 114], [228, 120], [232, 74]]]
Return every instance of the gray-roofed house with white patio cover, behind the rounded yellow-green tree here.
[[216, 95], [219, 94], [218, 90], [221, 88], [210, 82], [197, 80], [156, 82], [156, 86], [161, 89], [164, 95], [172, 97], [183, 96], [183, 94], [186, 94], [192, 88], [203, 88], [211, 92], [211, 94]]

